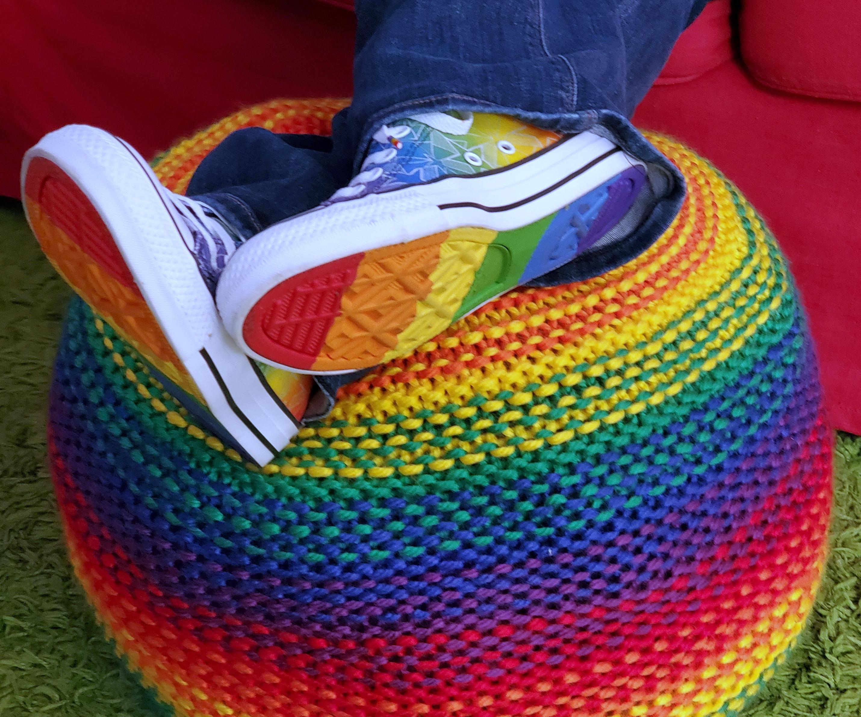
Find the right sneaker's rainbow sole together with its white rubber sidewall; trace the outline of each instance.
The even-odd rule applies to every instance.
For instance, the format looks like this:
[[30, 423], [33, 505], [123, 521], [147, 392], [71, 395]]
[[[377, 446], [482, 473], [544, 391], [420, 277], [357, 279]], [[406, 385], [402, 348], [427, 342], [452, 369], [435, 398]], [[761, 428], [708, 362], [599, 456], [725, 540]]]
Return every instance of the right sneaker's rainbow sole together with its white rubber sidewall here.
[[[302, 224], [317, 219], [306, 231], [325, 237], [322, 242], [297, 238], [304, 227], [295, 219], [262, 232], [222, 275], [218, 305], [228, 331], [261, 361], [315, 374], [342, 374], [411, 353], [456, 319], [587, 249], [572, 232], [575, 201], [626, 174], [629, 201], [616, 205], [627, 210], [634, 201], [644, 170], [616, 145], [583, 133], [560, 149], [486, 175], [448, 177], [315, 212], [352, 209], [353, 226], [349, 217], [330, 227], [315, 213], [297, 218]], [[462, 201], [467, 196], [474, 201]], [[427, 233], [441, 223], [443, 231]], [[409, 240], [373, 246], [387, 235]], [[307, 264], [320, 250], [350, 244], [370, 246], [288, 275], [299, 247]], [[232, 271], [238, 257], [243, 260]]]

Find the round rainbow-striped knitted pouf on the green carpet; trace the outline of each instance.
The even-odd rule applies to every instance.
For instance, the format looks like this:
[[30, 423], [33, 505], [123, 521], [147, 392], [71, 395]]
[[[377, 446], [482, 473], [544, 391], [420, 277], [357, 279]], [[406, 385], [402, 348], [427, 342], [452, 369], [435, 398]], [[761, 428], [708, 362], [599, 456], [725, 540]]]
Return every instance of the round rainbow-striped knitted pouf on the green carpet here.
[[[325, 132], [271, 102], [227, 131]], [[830, 433], [784, 257], [678, 143], [641, 257], [523, 288], [342, 389], [262, 468], [69, 310], [50, 451], [77, 577], [177, 715], [734, 714], [802, 629]]]

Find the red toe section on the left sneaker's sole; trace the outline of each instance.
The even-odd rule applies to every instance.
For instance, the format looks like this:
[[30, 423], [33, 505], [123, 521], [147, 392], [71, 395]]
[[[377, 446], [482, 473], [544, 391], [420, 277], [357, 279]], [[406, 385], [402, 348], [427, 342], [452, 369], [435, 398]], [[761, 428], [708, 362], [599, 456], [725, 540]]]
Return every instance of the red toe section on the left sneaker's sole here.
[[71, 177], [50, 160], [37, 157], [28, 166], [24, 189], [87, 256], [123, 286], [138, 290], [102, 217]]

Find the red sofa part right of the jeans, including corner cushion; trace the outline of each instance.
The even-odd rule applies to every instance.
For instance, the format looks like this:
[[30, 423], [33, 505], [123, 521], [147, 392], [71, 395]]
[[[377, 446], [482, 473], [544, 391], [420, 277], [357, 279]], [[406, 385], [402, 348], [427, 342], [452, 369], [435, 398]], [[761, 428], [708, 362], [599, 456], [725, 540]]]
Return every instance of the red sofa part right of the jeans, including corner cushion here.
[[634, 121], [711, 159], [790, 257], [836, 428], [861, 434], [861, 3], [715, 2]]

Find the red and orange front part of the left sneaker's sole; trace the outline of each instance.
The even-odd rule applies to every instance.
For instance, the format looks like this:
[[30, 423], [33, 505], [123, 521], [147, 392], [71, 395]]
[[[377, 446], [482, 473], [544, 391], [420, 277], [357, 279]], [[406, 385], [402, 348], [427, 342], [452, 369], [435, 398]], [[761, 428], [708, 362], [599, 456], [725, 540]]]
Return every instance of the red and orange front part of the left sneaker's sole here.
[[34, 234], [59, 274], [141, 355], [178, 373], [182, 363], [84, 192], [46, 158], [30, 162], [24, 191]]

